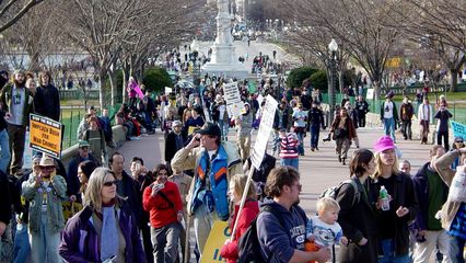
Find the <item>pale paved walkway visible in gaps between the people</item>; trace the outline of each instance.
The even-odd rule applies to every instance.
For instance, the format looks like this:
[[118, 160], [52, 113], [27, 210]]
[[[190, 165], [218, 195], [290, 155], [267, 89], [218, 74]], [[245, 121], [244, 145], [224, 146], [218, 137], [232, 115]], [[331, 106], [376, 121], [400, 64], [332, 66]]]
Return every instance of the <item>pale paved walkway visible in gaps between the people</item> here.
[[[349, 176], [348, 165], [342, 165], [337, 161], [334, 150], [334, 142], [322, 142], [322, 138], [327, 132], [321, 133], [319, 151], [312, 152], [310, 149], [310, 135], [305, 137], [305, 156], [300, 157], [300, 172], [303, 191], [301, 194], [301, 204], [308, 211], [315, 211], [315, 202], [318, 195], [327, 187], [337, 185]], [[378, 127], [359, 128], [361, 148], [372, 149], [374, 141], [383, 135], [383, 129]], [[398, 135], [398, 147], [403, 151], [403, 159], [407, 159], [412, 164], [412, 173], [429, 160], [429, 145], [420, 145], [418, 140], [405, 141]], [[254, 146], [255, 134], [253, 135]], [[233, 129], [230, 130], [230, 140], [235, 140]], [[158, 130], [155, 135], [141, 136], [137, 139], [126, 142], [119, 151], [125, 156], [126, 169], [129, 171], [129, 164], [132, 157], [141, 157], [149, 169], [153, 169], [163, 160], [164, 138], [163, 133]], [[268, 147], [268, 152], [271, 148]], [[354, 151], [354, 145], [351, 146], [349, 157]]]

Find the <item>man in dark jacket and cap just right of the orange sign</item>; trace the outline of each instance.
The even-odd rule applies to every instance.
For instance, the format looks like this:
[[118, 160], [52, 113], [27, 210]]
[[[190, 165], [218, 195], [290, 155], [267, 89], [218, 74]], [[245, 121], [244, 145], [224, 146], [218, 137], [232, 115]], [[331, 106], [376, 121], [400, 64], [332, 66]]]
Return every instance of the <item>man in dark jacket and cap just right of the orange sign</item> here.
[[86, 140], [80, 140], [78, 142], [78, 155], [70, 161], [68, 165], [68, 176], [67, 176], [67, 194], [70, 196], [72, 202], [81, 202], [81, 195], [79, 193], [80, 182], [78, 179], [78, 165], [83, 161], [92, 161], [96, 167], [98, 167], [97, 159], [89, 152], [89, 142]]

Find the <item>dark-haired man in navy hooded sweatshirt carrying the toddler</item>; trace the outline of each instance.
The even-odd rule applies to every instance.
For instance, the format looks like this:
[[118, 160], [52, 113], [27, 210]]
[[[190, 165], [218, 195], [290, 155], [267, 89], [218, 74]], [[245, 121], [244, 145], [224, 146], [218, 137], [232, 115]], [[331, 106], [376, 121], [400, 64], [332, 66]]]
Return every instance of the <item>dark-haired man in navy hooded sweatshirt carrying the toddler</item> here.
[[257, 216], [260, 253], [268, 262], [326, 262], [328, 249], [304, 251], [307, 217], [300, 203], [300, 173], [291, 167], [271, 170], [266, 183], [266, 199]]

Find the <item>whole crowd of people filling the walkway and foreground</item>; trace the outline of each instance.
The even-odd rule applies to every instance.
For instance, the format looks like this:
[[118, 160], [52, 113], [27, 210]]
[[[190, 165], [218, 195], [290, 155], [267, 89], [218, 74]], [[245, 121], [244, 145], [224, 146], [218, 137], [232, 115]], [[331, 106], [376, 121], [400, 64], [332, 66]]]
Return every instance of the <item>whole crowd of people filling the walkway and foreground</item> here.
[[[363, 96], [354, 105], [345, 98], [334, 122], [328, 123], [322, 95], [310, 83], [275, 92], [271, 79], [260, 81], [255, 91], [240, 80], [244, 106], [235, 116], [223, 98], [222, 87], [230, 81], [237, 80], [205, 76], [200, 93], [178, 89], [158, 96], [137, 80], [129, 81], [130, 100], [115, 115], [115, 124], [126, 127], [127, 139], [143, 129], [164, 133], [164, 161], [152, 170], [143, 157], [126, 160], [113, 140], [108, 112], [103, 110], [97, 116], [90, 107], [68, 169], [59, 159], [36, 155], [32, 171], [25, 172], [22, 153], [16, 152], [21, 139], [24, 147], [25, 116], [37, 113], [54, 118], [59, 114], [48, 112], [56, 108], [51, 100], [40, 104], [40, 94], [48, 92], [48, 99], [54, 92], [46, 72], [34, 93], [25, 87], [25, 75], [15, 72], [0, 95], [0, 127], [7, 129], [13, 149], [10, 152], [1, 145], [2, 158], [3, 153], [12, 156], [11, 165], [8, 156], [0, 168], [2, 260], [186, 262], [194, 252], [190, 260], [198, 262], [214, 221], [230, 220], [236, 230], [220, 251], [228, 262], [245, 262], [242, 238], [253, 226], [259, 245], [254, 256], [265, 262], [325, 262], [338, 243], [339, 262], [428, 262], [435, 249], [443, 262], [464, 262], [466, 201], [447, 197], [454, 175], [466, 173], [464, 138], [455, 138], [453, 150], [447, 139], [443, 146], [433, 146], [429, 162], [411, 175], [408, 160], [398, 163], [403, 149], [395, 145], [394, 130], [400, 116], [403, 134], [411, 139], [413, 111], [404, 104], [398, 112], [392, 94], [381, 105], [386, 135], [375, 141], [373, 151], [357, 149], [350, 157], [348, 149], [352, 141], [359, 148], [357, 128], [365, 126], [369, 112]], [[252, 133], [260, 125], [268, 94], [279, 102], [272, 152], [264, 153], [246, 188], [245, 174], [253, 169]], [[406, 101], [410, 103], [409, 98]], [[438, 107], [438, 126], [444, 128], [451, 116], [446, 101]], [[433, 114], [428, 102], [419, 106], [423, 132], [432, 122], [428, 115]], [[333, 196], [319, 198], [317, 215], [310, 215], [299, 205], [303, 187], [299, 159], [319, 150], [319, 134], [327, 126], [324, 140], [335, 140], [337, 159], [349, 164], [350, 180], [336, 187]], [[229, 130], [233, 129], [232, 140]], [[310, 152], [304, 147], [307, 133]], [[447, 125], [446, 134], [441, 128], [439, 134], [447, 138]], [[243, 195], [247, 198], [240, 210]], [[65, 218], [65, 201], [82, 208]], [[189, 238], [190, 228], [194, 238]]]

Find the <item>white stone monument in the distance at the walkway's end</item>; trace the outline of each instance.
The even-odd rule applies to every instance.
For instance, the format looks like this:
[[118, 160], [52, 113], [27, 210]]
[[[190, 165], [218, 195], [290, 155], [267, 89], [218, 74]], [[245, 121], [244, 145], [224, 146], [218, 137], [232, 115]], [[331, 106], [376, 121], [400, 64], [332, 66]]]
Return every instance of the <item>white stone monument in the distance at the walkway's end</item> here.
[[229, 0], [217, 0], [219, 14], [217, 15], [217, 37], [212, 45], [211, 61], [202, 67], [202, 72], [223, 75], [228, 78], [245, 79], [247, 69], [237, 60], [233, 46], [232, 15]]

